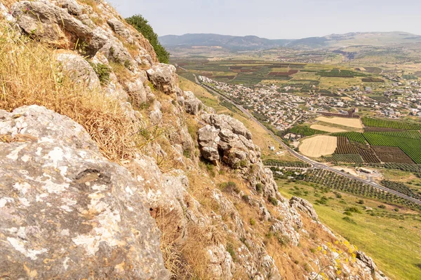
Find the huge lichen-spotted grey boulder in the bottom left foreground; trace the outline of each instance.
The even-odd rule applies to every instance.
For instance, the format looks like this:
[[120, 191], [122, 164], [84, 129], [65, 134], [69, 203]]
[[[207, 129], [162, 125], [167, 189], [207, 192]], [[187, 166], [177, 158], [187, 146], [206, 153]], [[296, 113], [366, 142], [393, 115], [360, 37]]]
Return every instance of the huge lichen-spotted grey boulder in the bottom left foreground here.
[[145, 190], [83, 127], [44, 107], [0, 111], [0, 275], [167, 279]]

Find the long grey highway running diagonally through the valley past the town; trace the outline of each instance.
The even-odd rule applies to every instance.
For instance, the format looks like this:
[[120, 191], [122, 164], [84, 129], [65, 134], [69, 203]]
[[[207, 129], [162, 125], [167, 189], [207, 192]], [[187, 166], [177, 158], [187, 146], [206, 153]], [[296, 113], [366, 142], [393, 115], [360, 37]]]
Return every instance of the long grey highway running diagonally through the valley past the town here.
[[[183, 69], [185, 71], [187, 71], [187, 69]], [[259, 120], [257, 120], [252, 114], [250, 114], [246, 109], [243, 108], [243, 106], [235, 104], [235, 102], [233, 102], [231, 99], [229, 99], [228, 97], [225, 97], [224, 95], [220, 94], [219, 92], [213, 90], [212, 87], [209, 87], [208, 85], [204, 85], [203, 83], [201, 83], [199, 81], [199, 79], [197, 78], [197, 76], [194, 74], [194, 79], [196, 80], [196, 83], [198, 85], [201, 85], [201, 87], [204, 87], [206, 90], [209, 90], [210, 92], [212, 92], [213, 94], [215, 94], [216, 96], [224, 99], [226, 102], [229, 102], [231, 104], [233, 104], [234, 106], [236, 106], [237, 109], [239, 109], [241, 112], [243, 112], [246, 116], [248, 116], [248, 118], [250, 118], [251, 120], [253, 120], [256, 124], [260, 125], [260, 127], [262, 127], [263, 130], [265, 130], [267, 133], [269, 133], [274, 140], [279, 143], [281, 146], [283, 146], [283, 148], [285, 148], [289, 153], [291, 153], [292, 155], [295, 156], [295, 158], [298, 158], [304, 162], [309, 163], [310, 165], [312, 165], [312, 168], [317, 168], [317, 169], [325, 169], [328, 170], [330, 172], [335, 172], [336, 174], [339, 174], [341, 176], [345, 176], [349, 179], [353, 179], [356, 181], [360, 181], [361, 183], [366, 183], [367, 185], [373, 186], [375, 188], [378, 188], [380, 190], [385, 190], [388, 193], [392, 193], [396, 196], [402, 197], [406, 200], [409, 200], [410, 202], [414, 202], [416, 204], [421, 204], [420, 200], [416, 200], [413, 197], [408, 197], [408, 195], [403, 195], [402, 193], [398, 193], [394, 190], [390, 190], [389, 188], [385, 188], [384, 186], [379, 185], [378, 183], [375, 183], [373, 181], [370, 180], [364, 180], [361, 179], [357, 176], [354, 176], [352, 174], [348, 174], [346, 172], [341, 172], [338, 169], [334, 169], [333, 167], [330, 167], [328, 165], [324, 165], [323, 163], [320, 162], [316, 162], [314, 160], [310, 160], [309, 158], [305, 157], [304, 155], [301, 155], [300, 153], [297, 153], [296, 151], [294, 151], [292, 148], [290, 148], [290, 146], [288, 146], [287, 144], [283, 143], [283, 141], [281, 141], [281, 139], [279, 139], [278, 137], [276, 137], [276, 135], [269, 129], [267, 129], [267, 127], [265, 127], [265, 125], [262, 125], [262, 123], [260, 123]]]

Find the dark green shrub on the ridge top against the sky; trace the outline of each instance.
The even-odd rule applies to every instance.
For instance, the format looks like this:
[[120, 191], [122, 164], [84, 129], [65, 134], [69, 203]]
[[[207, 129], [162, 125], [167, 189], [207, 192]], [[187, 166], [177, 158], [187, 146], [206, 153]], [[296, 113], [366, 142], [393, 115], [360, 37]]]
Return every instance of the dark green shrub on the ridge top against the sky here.
[[159, 62], [168, 63], [170, 60], [170, 53], [166, 51], [165, 48], [159, 43], [158, 35], [155, 33], [154, 29], [149, 25], [147, 20], [142, 17], [142, 15], [133, 15], [130, 18], [126, 18], [128, 24], [133, 25], [136, 30], [138, 30], [147, 40], [151, 43], [152, 47], [156, 52], [156, 57], [158, 57]]

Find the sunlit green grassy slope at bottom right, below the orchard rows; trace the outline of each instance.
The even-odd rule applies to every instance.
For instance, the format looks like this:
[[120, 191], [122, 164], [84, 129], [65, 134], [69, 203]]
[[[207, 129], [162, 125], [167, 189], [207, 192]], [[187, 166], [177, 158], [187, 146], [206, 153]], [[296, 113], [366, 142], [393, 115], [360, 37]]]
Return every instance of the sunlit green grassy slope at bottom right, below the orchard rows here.
[[[415, 211], [382, 204], [346, 193], [323, 191], [311, 183], [278, 181], [279, 191], [287, 198], [299, 196], [314, 204], [322, 223], [347, 238], [375, 260], [377, 267], [391, 279], [421, 279], [421, 220]], [[312, 186], [313, 185], [313, 186]], [[322, 199], [326, 197], [327, 200]], [[363, 200], [363, 204], [359, 204]], [[317, 203], [326, 202], [326, 205]], [[385, 209], [380, 209], [385, 205]], [[361, 214], [344, 213], [356, 207]], [[373, 210], [366, 211], [364, 207]], [[349, 211], [348, 211], [349, 212]], [[349, 217], [354, 223], [345, 221]]]

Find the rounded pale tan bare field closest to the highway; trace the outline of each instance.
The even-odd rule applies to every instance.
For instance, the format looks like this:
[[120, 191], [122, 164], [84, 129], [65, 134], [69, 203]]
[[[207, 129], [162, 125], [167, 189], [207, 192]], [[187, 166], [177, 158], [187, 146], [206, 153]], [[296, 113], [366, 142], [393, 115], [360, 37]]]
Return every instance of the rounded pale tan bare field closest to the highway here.
[[337, 146], [336, 137], [321, 135], [302, 141], [300, 152], [308, 157], [319, 158], [333, 154]]

